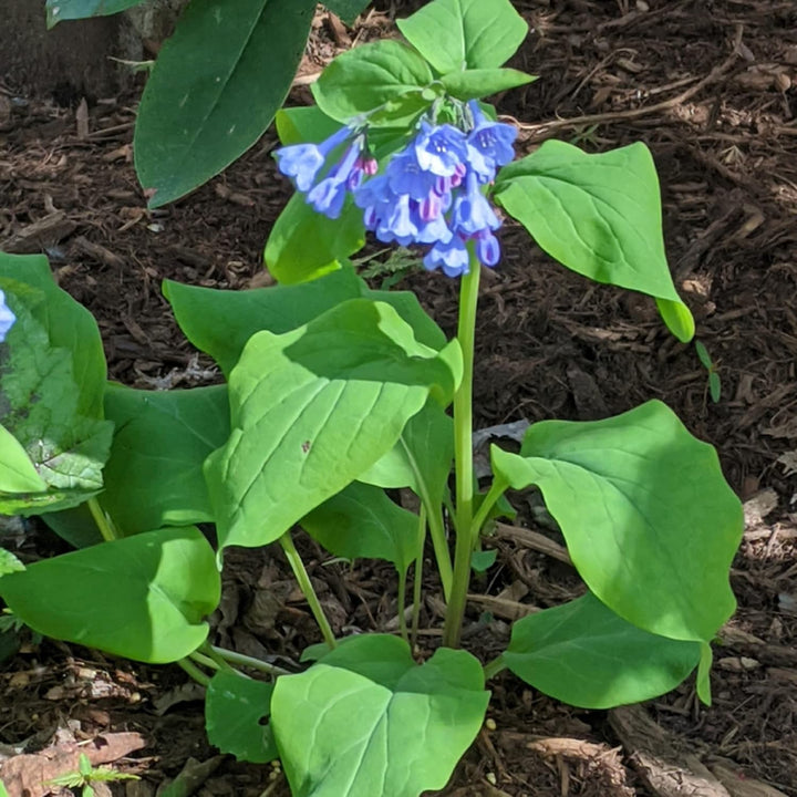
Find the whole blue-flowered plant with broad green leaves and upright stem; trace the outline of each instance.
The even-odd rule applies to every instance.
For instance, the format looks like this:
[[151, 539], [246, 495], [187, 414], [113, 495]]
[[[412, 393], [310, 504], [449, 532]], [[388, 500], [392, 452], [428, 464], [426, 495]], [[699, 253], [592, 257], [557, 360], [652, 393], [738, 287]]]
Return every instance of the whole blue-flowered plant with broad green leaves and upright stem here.
[[[400, 28], [407, 43], [340, 55], [313, 87], [317, 107], [278, 114], [275, 155], [298, 189], [266, 246], [281, 284], [164, 286], [225, 384], [105, 385], [96, 327], [46, 262], [0, 260], [17, 319], [0, 346], [11, 408], [0, 510], [42, 514], [79, 548], [28, 567], [6, 555], [0, 594], [43, 634], [179, 662], [207, 685], [211, 742], [247, 760], [279, 756], [297, 796], [442, 788], [483, 723], [485, 681], [503, 670], [571, 704], [608, 707], [666, 692], [697, 667], [707, 701], [710, 642], [734, 610], [739, 503], [715, 452], [661, 402], [536, 423], [519, 453], [493, 446], [479, 491], [475, 318], [482, 267], [500, 266], [500, 214], [566, 267], [653, 297], [681, 340], [694, 329], [666, 266], [648, 149], [588, 155], [547, 142], [514, 161], [515, 130], [479, 102], [531, 80], [501, 66], [526, 32], [508, 0], [433, 0]], [[425, 268], [459, 280], [455, 339], [413, 294], [356, 276], [349, 258], [366, 232], [423, 247]], [[68, 333], [79, 324], [80, 340]], [[459, 646], [474, 553], [489, 520], [510, 511], [505, 494], [531, 485], [584, 594], [515, 622], [506, 650], [483, 664]], [[393, 500], [396, 488], [417, 496], [418, 511]], [[193, 525], [201, 521], [215, 524], [216, 550]], [[293, 544], [297, 526], [335, 556], [394, 565], [400, 634], [338, 638]], [[90, 545], [97, 534], [104, 541]], [[410, 641], [427, 536], [446, 608], [443, 644], [418, 652], [418, 664]], [[270, 542], [323, 638], [301, 672], [208, 641], [225, 550]]]

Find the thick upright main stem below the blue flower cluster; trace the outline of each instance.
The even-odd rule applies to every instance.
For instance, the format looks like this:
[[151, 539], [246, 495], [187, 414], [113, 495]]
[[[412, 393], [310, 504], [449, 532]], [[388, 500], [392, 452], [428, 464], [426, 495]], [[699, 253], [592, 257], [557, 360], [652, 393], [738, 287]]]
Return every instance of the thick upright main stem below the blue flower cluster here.
[[459, 644], [475, 536], [473, 532], [473, 363], [479, 269], [480, 263], [470, 249], [470, 269], [463, 276], [459, 289], [459, 324], [457, 328], [457, 340], [463, 353], [463, 379], [454, 395], [456, 545], [454, 548], [454, 582], [443, 631], [443, 644], [448, 648], [456, 648]]

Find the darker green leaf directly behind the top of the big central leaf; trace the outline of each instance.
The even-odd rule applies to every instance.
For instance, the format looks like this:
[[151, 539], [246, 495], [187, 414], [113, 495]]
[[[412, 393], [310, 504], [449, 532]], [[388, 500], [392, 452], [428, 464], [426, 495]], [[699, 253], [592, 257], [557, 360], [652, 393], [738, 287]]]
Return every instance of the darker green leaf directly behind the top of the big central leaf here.
[[224, 291], [166, 280], [163, 290], [186, 338], [209, 354], [227, 376], [256, 332], [290, 332], [359, 297], [392, 304], [421, 343], [434, 349], [446, 343], [439, 327], [424, 312], [414, 293], [373, 291], [350, 268], [299, 286]]

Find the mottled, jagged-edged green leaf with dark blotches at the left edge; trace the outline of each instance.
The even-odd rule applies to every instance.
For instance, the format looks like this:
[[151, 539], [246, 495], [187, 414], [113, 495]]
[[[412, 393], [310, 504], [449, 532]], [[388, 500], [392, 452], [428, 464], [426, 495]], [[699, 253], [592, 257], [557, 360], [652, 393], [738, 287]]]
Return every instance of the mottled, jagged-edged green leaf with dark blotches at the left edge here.
[[45, 489], [1, 493], [0, 513], [30, 515], [75, 506], [102, 489], [113, 424], [79, 412], [71, 352], [51, 345], [29, 309], [41, 307], [45, 296], [13, 284], [7, 301], [17, 322], [0, 346], [0, 405], [6, 432], [19, 442]]

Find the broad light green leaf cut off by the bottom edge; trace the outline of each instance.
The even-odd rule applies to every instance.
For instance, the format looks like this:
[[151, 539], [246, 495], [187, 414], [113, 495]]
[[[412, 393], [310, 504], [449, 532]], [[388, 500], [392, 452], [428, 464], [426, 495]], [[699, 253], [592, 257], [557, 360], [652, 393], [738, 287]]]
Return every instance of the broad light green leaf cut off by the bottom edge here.
[[488, 700], [469, 653], [416, 666], [405, 642], [369, 634], [281, 676], [271, 725], [293, 797], [417, 797], [446, 785]]

